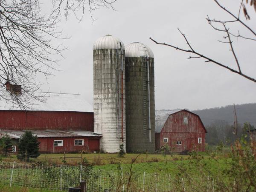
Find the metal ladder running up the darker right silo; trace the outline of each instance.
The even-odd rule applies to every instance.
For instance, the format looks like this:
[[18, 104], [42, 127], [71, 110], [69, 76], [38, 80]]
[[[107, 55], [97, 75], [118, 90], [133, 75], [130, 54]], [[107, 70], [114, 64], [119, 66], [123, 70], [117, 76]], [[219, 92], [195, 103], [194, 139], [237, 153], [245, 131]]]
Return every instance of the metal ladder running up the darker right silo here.
[[143, 133], [147, 133], [147, 61], [143, 58]]

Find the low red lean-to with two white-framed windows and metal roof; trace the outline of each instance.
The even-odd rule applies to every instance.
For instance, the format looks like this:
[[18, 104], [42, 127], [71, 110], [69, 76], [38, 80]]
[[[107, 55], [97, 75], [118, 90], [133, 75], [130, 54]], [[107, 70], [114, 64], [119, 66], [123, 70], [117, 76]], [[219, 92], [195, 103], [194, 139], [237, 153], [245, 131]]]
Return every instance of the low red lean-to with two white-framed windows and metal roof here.
[[[22, 131], [0, 131], [0, 139], [8, 135], [12, 140], [12, 151], [17, 152], [17, 144]], [[40, 153], [63, 153], [79, 151], [99, 151], [100, 134], [84, 130], [29, 130], [38, 137]]]

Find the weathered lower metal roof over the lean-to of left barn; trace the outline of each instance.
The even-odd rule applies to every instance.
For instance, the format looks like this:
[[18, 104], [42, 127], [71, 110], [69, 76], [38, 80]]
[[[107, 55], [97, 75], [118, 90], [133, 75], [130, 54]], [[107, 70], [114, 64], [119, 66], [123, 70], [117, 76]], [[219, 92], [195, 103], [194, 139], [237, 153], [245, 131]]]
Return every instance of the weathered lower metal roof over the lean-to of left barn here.
[[[22, 131], [0, 131], [0, 138], [3, 136], [9, 135], [11, 139], [19, 139], [26, 130]], [[29, 130], [36, 135], [37, 137], [100, 137], [101, 134], [96, 134], [92, 131], [84, 131], [84, 130]]]

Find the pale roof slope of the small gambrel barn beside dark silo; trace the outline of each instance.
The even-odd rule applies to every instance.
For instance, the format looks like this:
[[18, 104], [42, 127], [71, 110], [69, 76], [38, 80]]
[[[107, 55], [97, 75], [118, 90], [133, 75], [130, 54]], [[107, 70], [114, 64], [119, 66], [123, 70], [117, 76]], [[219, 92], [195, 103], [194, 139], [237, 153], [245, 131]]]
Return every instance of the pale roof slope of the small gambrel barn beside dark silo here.
[[165, 124], [168, 117], [174, 113], [177, 113], [179, 111], [183, 111], [184, 109], [162, 109], [162, 110], [156, 110], [155, 111], [155, 132], [160, 133], [163, 125]]

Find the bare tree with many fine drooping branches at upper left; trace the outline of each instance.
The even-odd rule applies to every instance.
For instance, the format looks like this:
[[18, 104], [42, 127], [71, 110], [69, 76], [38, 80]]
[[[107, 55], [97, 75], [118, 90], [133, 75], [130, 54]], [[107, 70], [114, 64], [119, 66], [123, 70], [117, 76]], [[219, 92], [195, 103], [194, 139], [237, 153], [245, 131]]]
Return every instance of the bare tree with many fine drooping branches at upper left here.
[[[55, 70], [57, 60], [65, 49], [54, 45], [52, 39], [66, 38], [57, 30], [61, 16], [73, 13], [81, 20], [85, 11], [99, 7], [113, 9], [116, 0], [52, 0], [51, 9], [39, 0], [0, 0], [0, 99], [22, 108], [33, 100], [44, 100], [40, 93], [38, 73], [49, 76]], [[77, 13], [81, 13], [80, 17]], [[5, 83], [22, 85], [22, 93], [6, 94]]]

